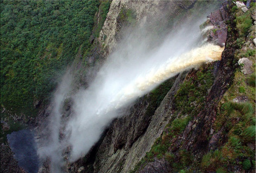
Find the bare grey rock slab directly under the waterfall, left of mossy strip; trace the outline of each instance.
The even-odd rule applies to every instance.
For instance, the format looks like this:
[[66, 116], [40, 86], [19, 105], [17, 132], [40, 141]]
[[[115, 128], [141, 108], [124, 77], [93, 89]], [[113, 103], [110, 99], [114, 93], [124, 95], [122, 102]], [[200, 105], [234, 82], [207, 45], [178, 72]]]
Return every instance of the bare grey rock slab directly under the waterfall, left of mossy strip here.
[[[150, 150], [156, 138], [161, 135], [164, 127], [172, 118], [172, 100], [184, 78], [185, 74], [180, 74], [176, 78], [171, 90], [164, 97], [154, 116], [145, 117], [143, 112], [147, 107], [145, 107], [145, 103], [138, 102], [131, 109], [130, 114], [118, 118], [114, 122], [113, 128], [109, 130], [97, 152], [94, 163], [95, 172], [126, 173], [135, 167], [145, 156], [145, 153]], [[136, 112], [136, 109], [139, 112]], [[152, 119], [150, 122], [145, 122], [147, 118]], [[125, 123], [128, 124], [127, 127], [123, 126]], [[148, 127], [146, 131], [143, 131], [140, 126]]]

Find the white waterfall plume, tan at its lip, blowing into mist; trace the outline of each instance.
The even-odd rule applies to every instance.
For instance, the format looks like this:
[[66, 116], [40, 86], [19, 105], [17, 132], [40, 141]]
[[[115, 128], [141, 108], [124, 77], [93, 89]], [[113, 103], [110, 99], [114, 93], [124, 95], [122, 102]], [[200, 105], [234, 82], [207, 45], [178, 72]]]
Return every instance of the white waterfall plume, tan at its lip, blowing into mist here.
[[[41, 158], [50, 157], [52, 172], [60, 172], [63, 151], [69, 148], [69, 161], [84, 156], [99, 140], [120, 108], [132, 104], [156, 86], [178, 73], [219, 60], [224, 48], [202, 44], [199, 24], [204, 19], [180, 26], [161, 45], [149, 49], [149, 40], [141, 29], [124, 36], [89, 87], [70, 96], [72, 113], [62, 120], [61, 102], [69, 96], [70, 81], [64, 78], [53, 102], [50, 127], [52, 135], [40, 145]], [[62, 86], [63, 85], [63, 86]], [[59, 132], [64, 135], [59, 138]]]

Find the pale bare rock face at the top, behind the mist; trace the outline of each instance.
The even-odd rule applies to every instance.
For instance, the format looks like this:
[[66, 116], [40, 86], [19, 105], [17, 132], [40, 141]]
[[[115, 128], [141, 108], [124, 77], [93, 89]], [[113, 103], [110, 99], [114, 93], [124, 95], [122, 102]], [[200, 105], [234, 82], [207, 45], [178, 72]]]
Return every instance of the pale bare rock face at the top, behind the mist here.
[[107, 58], [114, 50], [119, 41], [116, 37], [117, 30], [121, 27], [117, 18], [122, 8], [132, 9], [136, 14], [136, 21], [140, 21], [139, 25], [144, 25], [146, 21], [153, 23], [154, 19], [161, 19], [166, 16], [165, 12], [177, 14], [180, 8], [191, 8], [196, 0], [191, 1], [137, 1], [137, 0], [113, 0], [104, 22], [98, 42], [100, 43], [102, 56]]

